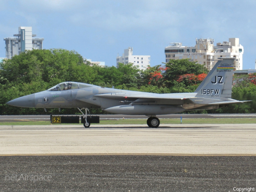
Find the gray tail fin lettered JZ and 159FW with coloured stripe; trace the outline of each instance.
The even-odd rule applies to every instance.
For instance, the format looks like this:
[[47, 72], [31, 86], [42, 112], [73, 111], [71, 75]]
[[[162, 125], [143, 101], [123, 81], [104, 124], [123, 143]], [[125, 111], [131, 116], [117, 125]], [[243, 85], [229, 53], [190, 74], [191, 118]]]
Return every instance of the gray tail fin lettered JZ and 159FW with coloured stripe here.
[[221, 57], [195, 90], [196, 97], [231, 98], [234, 57]]

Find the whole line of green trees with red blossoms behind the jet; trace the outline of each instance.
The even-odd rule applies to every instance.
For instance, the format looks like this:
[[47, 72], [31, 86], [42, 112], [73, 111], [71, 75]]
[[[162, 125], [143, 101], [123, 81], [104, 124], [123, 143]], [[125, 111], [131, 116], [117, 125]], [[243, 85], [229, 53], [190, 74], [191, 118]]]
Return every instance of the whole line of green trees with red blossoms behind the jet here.
[[[77, 109], [20, 108], [5, 103], [20, 96], [47, 90], [65, 81], [83, 82], [117, 89], [153, 92], [194, 92], [209, 71], [189, 59], [170, 60], [168, 63], [148, 67], [141, 71], [132, 63], [119, 67], [90, 66], [76, 51], [43, 49], [24, 51], [12, 59], [0, 63], [0, 115], [79, 114]], [[235, 75], [232, 97], [253, 100], [245, 104], [233, 104], [216, 110], [187, 111], [186, 113], [255, 113], [255, 74]], [[103, 113], [93, 110], [92, 113]]]

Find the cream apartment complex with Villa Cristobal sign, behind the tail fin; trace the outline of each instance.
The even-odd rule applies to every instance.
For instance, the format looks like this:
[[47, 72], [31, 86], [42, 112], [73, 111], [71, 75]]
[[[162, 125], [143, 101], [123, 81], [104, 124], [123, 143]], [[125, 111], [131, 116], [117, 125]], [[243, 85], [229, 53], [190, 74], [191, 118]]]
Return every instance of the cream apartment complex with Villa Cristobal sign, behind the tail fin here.
[[182, 43], [171, 43], [164, 49], [166, 63], [170, 59], [189, 59], [205, 65], [208, 70], [218, 61], [218, 57], [235, 57], [234, 70], [243, 69], [243, 46], [239, 44], [239, 38], [229, 38], [229, 42], [213, 45], [214, 39], [196, 39], [194, 47], [182, 46]]

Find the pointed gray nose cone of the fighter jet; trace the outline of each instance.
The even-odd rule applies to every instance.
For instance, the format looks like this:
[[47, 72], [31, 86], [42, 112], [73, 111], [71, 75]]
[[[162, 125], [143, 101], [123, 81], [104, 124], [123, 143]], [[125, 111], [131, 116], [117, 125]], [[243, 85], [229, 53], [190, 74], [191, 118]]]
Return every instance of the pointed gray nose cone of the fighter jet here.
[[6, 104], [16, 107], [35, 107], [35, 94], [13, 99]]

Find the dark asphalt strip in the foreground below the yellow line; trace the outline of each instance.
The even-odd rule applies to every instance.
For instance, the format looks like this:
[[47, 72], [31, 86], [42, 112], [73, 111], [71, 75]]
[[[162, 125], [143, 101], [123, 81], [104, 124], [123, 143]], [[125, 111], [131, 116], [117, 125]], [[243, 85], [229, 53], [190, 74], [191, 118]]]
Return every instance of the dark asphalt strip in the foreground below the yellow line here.
[[256, 190], [256, 156], [0, 156], [0, 162], [0, 191]]

